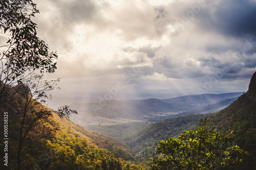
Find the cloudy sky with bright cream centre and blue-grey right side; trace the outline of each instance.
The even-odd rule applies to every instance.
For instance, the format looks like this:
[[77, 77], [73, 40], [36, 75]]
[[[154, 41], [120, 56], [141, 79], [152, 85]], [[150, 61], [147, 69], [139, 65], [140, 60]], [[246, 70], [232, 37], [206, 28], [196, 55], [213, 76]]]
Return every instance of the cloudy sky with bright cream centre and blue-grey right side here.
[[35, 0], [59, 93], [240, 92], [256, 71], [256, 1]]

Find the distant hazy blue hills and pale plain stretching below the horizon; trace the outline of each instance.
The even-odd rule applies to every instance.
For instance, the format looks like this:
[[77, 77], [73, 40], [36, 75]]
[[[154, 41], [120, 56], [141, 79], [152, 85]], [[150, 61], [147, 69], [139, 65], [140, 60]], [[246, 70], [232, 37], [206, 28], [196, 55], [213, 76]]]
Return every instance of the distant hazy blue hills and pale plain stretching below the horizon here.
[[[71, 117], [80, 125], [115, 125], [130, 122], [158, 122], [193, 113], [209, 113], [227, 107], [238, 93], [188, 95], [160, 100], [156, 98], [132, 101], [105, 101], [71, 104], [80, 115]], [[231, 99], [232, 98], [232, 99]], [[197, 104], [197, 102], [199, 102]]]

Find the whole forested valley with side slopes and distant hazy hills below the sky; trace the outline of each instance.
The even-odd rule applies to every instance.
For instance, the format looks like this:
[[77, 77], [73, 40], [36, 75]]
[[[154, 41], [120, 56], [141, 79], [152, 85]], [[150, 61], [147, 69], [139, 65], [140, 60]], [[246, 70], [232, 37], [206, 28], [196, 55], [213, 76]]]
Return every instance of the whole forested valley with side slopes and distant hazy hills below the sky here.
[[[254, 140], [255, 82], [256, 72], [246, 93], [188, 95], [167, 100], [109, 101], [108, 105], [98, 112], [92, 110], [92, 106], [97, 103], [73, 103], [71, 106], [80, 111], [80, 114], [72, 115], [72, 118], [75, 118], [74, 122], [49, 114], [42, 122], [38, 122], [30, 129], [31, 133], [26, 137], [28, 144], [25, 144], [25, 147], [29, 147], [30, 141], [34, 141], [36, 145], [29, 149], [30, 154], [27, 154], [27, 158], [40, 157], [42, 155], [40, 148], [47, 152], [54, 151], [56, 154], [52, 155], [52, 162], [49, 164], [35, 161], [27, 163], [26, 167], [38, 165], [43, 169], [67, 166], [78, 169], [82, 167], [151, 169], [151, 160], [157, 156], [156, 148], [159, 141], [168, 140], [170, 137], [177, 138], [184, 131], [191, 132], [199, 127], [200, 121], [206, 121], [207, 118], [212, 130], [225, 135], [234, 134], [234, 141], [250, 154], [246, 161], [249, 162], [248, 169], [251, 169], [256, 143]], [[22, 88], [26, 87], [22, 86]], [[23, 115], [21, 109], [26, 106], [26, 99], [22, 95], [23, 93], [19, 92], [11, 96], [11, 100], [1, 105], [0, 109], [10, 112], [9, 130], [10, 135], [13, 136], [10, 142], [14, 144], [10, 147], [12, 158], [15, 156], [18, 137], [15, 129], [20, 127], [18, 121]], [[37, 105], [25, 115], [27, 124], [33, 119], [37, 110], [45, 110], [46, 113], [51, 111], [40, 103]], [[222, 109], [224, 107], [225, 109]], [[222, 110], [209, 113], [218, 109]], [[37, 138], [40, 138], [40, 134], [36, 132], [44, 133], [45, 128], [51, 133], [38, 142]], [[25, 150], [23, 152], [26, 153]], [[10, 162], [14, 161], [10, 159]]]

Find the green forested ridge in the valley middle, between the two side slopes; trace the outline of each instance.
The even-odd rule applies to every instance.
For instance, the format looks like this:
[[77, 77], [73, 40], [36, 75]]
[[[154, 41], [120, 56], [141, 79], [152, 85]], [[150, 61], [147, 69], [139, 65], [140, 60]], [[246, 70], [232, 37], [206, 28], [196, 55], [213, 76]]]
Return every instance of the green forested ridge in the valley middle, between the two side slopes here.
[[168, 137], [177, 137], [183, 130], [189, 130], [197, 125], [200, 119], [210, 117], [212, 114], [190, 114], [180, 117], [168, 118], [155, 124], [129, 123], [111, 126], [86, 126], [113, 138], [124, 141], [133, 150], [136, 161], [149, 161], [155, 156], [158, 142]]

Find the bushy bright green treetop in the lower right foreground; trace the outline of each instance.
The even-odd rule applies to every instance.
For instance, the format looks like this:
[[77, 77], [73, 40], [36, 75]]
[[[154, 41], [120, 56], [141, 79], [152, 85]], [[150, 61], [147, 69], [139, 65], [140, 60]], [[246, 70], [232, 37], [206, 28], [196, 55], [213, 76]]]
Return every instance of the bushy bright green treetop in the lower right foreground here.
[[247, 152], [232, 145], [232, 137], [210, 131], [206, 119], [200, 128], [159, 142], [152, 169], [248, 169]]

